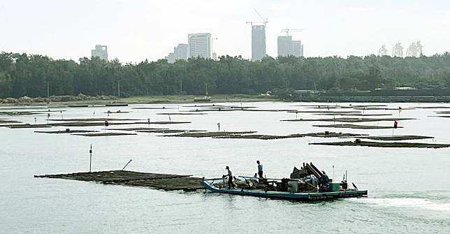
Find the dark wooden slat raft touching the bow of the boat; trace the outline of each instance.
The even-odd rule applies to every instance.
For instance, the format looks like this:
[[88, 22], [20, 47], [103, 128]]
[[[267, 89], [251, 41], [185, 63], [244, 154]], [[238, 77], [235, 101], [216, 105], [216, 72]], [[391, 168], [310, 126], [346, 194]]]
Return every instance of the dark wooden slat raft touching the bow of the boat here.
[[92, 173], [70, 173], [58, 175], [34, 175], [34, 177], [147, 187], [150, 189], [163, 189], [165, 191], [196, 191], [197, 189], [204, 189], [201, 187], [202, 179], [198, 177], [191, 177], [191, 175], [140, 173], [129, 170], [107, 170]]

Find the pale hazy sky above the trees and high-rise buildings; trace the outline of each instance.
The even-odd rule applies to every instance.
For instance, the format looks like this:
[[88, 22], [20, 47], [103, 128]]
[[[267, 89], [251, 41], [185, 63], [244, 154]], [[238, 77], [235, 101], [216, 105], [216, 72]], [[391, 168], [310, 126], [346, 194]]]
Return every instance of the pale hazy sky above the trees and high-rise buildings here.
[[[164, 58], [187, 34], [210, 32], [217, 54], [251, 54], [251, 29], [268, 17], [267, 53], [277, 54], [283, 28], [305, 57], [377, 54], [420, 40], [426, 55], [450, 51], [450, 1], [407, 0], [0, 0], [0, 51], [90, 57], [96, 44], [120, 61]], [[405, 50], [406, 52], [406, 50]]]

